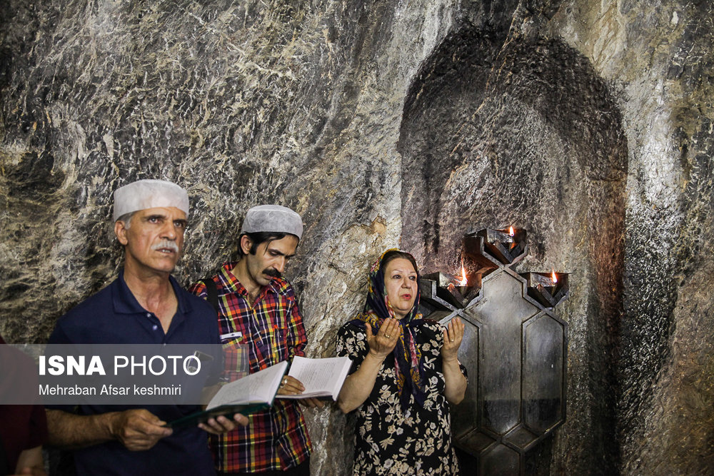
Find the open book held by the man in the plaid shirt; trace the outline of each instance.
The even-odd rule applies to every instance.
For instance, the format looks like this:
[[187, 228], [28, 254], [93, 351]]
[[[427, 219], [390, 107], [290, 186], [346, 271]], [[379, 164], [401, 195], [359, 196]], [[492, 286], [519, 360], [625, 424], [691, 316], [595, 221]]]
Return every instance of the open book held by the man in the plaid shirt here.
[[342, 384], [347, 378], [352, 361], [348, 357], [308, 359], [296, 356], [288, 375], [304, 385], [300, 395], [276, 395], [278, 398], [332, 397], [337, 400]]

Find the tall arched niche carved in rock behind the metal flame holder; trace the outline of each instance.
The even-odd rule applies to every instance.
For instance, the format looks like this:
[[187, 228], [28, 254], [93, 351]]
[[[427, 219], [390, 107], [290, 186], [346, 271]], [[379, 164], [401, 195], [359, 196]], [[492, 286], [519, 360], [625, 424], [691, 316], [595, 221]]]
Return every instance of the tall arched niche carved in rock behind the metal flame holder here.
[[547, 457], [583, 469], [618, 464], [628, 149], [611, 90], [560, 39], [465, 28], [411, 83], [398, 143], [401, 247], [424, 273], [458, 274], [464, 234], [509, 225], [528, 229], [528, 268], [572, 273], [568, 422]]

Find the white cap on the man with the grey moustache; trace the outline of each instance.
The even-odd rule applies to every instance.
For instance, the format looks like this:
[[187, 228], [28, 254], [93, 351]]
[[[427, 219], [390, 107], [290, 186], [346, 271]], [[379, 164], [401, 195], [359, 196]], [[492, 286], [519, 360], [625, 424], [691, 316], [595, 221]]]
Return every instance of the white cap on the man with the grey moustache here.
[[126, 213], [171, 206], [186, 213], [188, 218], [188, 193], [176, 183], [146, 179], [114, 191], [114, 221]]

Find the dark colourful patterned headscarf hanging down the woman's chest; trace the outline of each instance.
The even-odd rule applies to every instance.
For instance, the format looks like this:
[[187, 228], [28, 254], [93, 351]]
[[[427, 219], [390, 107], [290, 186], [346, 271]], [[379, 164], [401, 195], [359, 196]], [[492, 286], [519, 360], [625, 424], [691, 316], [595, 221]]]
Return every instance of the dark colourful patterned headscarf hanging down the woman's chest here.
[[[377, 334], [377, 331], [385, 319], [395, 317], [394, 310], [387, 298], [387, 290], [384, 284], [384, 266], [382, 265], [384, 255], [390, 251], [406, 253], [406, 251], [391, 248], [382, 253], [380, 258], [376, 260], [367, 278], [367, 300], [364, 309], [362, 313], [351, 320], [351, 323], [361, 330], [366, 328], [365, 323], [369, 323], [374, 335]], [[404, 318], [398, 320], [401, 333], [397, 345], [392, 351], [394, 355], [394, 369], [397, 375], [399, 401], [403, 408], [407, 407], [410, 395], [414, 395], [414, 399], [419, 405], [423, 405], [426, 399], [423, 384], [424, 369], [421, 364], [421, 350], [416, 346], [415, 340], [416, 330], [421, 328], [425, 323], [421, 318], [421, 314], [418, 313], [419, 297], [421, 295], [421, 291], [418, 288], [418, 274], [416, 280], [417, 292], [414, 305]], [[405, 389], [407, 390], [406, 392], [404, 391]]]

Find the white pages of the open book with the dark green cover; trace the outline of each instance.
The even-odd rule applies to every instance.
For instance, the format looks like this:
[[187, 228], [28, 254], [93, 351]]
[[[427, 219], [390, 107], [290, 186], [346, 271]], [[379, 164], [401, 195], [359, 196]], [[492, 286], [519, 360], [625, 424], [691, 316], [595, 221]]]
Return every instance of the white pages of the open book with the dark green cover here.
[[211, 398], [211, 402], [208, 402], [206, 410], [221, 405], [242, 405], [250, 402], [272, 404], [287, 368], [288, 363], [283, 361], [223, 385], [221, 390]]

